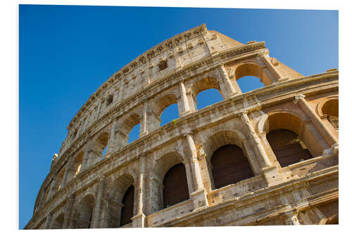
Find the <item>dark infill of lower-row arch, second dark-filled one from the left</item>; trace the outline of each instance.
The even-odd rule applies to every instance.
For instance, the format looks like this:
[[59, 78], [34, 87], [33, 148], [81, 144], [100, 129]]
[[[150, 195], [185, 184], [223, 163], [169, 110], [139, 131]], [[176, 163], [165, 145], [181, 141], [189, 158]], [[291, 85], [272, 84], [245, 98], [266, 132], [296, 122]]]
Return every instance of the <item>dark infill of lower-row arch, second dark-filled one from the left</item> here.
[[186, 168], [180, 163], [171, 167], [163, 180], [163, 207], [167, 208], [189, 199]]

